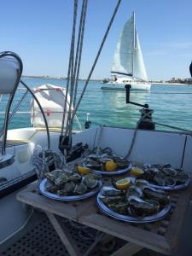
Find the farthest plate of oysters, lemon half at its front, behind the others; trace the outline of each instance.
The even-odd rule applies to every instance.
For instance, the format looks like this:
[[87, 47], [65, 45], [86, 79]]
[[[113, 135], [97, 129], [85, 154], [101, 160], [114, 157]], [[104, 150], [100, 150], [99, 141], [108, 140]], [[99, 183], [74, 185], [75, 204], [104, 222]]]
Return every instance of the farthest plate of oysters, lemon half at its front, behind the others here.
[[90, 154], [84, 158], [80, 165], [102, 175], [123, 174], [129, 172], [132, 166], [129, 160], [111, 152]]

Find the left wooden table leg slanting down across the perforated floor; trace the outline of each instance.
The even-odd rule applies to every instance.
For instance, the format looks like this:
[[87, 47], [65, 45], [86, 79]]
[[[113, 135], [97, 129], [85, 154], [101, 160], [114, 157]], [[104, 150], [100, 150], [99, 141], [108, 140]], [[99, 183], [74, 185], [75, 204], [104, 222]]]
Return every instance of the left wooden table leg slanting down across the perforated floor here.
[[80, 253], [78, 247], [76, 247], [75, 241], [73, 241], [73, 238], [70, 237], [70, 234], [67, 232], [67, 230], [65, 230], [63, 226], [61, 227], [61, 224], [59, 223], [55, 215], [50, 212], [45, 213], [49, 218], [50, 223], [54, 226], [56, 233], [58, 234], [58, 236], [60, 236], [64, 246], [67, 248], [68, 253], [71, 256], [81, 255], [82, 253]]

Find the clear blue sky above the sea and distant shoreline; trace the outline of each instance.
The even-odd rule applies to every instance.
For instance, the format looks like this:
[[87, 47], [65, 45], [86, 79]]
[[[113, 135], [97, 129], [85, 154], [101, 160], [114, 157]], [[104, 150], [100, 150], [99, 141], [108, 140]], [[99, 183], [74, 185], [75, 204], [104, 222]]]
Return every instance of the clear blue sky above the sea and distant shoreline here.
[[[81, 78], [90, 72], [116, 3], [89, 0]], [[73, 0], [0, 0], [0, 9], [0, 51], [20, 55], [23, 75], [67, 75]], [[122, 0], [92, 78], [110, 77], [115, 46], [132, 11], [148, 79], [189, 78], [191, 10], [191, 0]]]

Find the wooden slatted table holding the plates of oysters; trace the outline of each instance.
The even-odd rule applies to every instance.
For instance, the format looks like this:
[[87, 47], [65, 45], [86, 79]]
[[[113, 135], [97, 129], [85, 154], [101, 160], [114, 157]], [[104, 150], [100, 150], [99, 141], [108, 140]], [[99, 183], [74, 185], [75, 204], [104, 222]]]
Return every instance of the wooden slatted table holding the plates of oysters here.
[[[155, 252], [170, 254], [177, 247], [183, 220], [189, 206], [192, 186], [184, 190], [170, 192], [172, 210], [166, 218], [150, 224], [128, 224], [102, 214], [96, 207], [96, 197], [77, 202], [54, 201], [40, 195], [36, 184], [22, 190], [17, 199], [32, 207], [44, 211], [51, 224], [55, 227], [61, 241], [67, 247], [68, 253], [79, 256], [78, 247], [61, 226], [58, 216], [72, 219], [108, 235], [128, 241], [125, 246], [113, 253], [117, 255], [132, 255], [143, 247]], [[96, 241], [97, 242], [97, 241]], [[84, 253], [84, 255], [87, 255]]]

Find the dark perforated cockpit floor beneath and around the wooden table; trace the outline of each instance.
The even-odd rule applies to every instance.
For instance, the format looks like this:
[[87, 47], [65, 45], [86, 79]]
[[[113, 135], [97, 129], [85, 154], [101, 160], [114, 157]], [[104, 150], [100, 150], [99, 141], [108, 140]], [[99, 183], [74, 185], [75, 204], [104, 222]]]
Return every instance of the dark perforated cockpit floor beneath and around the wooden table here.
[[[190, 255], [192, 252], [192, 204], [189, 207], [187, 217], [183, 224], [183, 230], [177, 251], [172, 256]], [[74, 222], [63, 218], [63, 223], [67, 226], [68, 232], [73, 236], [79, 247], [79, 250], [84, 253], [96, 236], [96, 230], [84, 229], [83, 225], [75, 225]], [[83, 232], [82, 232], [83, 230]], [[125, 241], [113, 239], [105, 245], [98, 244], [94, 251], [90, 253], [93, 256], [107, 256], [113, 251], [121, 247]], [[66, 247], [63, 246], [59, 236], [56, 234], [53, 226], [49, 223], [49, 219], [44, 213], [35, 211], [32, 218], [26, 225], [24, 230], [21, 230], [9, 241], [6, 241], [0, 246], [0, 255], [2, 256], [66, 256]], [[137, 256], [160, 256], [161, 253], [154, 253], [148, 249], [143, 249]]]

